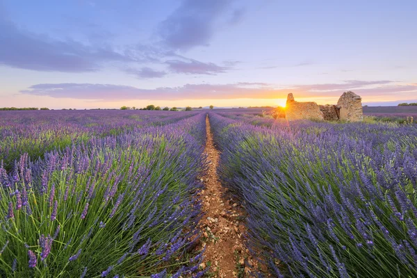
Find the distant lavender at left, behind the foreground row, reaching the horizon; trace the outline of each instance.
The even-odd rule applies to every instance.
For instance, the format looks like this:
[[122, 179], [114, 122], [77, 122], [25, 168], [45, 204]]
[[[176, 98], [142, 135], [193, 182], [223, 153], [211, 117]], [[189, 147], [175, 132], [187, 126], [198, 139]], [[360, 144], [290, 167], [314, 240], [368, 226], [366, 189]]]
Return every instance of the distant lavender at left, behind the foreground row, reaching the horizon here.
[[10, 170], [21, 154], [32, 158], [89, 138], [162, 126], [195, 113], [167, 111], [0, 111], [0, 161]]

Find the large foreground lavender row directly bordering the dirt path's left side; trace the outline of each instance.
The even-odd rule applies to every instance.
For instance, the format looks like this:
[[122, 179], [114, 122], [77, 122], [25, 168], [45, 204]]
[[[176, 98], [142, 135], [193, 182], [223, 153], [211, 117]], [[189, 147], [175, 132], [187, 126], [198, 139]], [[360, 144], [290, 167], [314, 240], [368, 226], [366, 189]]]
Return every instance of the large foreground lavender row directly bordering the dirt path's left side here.
[[6, 277], [202, 275], [193, 254], [204, 114], [0, 167]]

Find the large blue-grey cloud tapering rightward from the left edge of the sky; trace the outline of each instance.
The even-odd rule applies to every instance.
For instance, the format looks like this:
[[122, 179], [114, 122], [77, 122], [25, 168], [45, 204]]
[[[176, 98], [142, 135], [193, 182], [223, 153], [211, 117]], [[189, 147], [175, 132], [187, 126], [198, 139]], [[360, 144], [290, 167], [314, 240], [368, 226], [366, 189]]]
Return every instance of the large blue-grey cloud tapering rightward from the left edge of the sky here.
[[44, 72], [92, 72], [101, 63], [136, 58], [111, 47], [92, 47], [74, 40], [56, 40], [17, 28], [0, 17], [0, 65]]

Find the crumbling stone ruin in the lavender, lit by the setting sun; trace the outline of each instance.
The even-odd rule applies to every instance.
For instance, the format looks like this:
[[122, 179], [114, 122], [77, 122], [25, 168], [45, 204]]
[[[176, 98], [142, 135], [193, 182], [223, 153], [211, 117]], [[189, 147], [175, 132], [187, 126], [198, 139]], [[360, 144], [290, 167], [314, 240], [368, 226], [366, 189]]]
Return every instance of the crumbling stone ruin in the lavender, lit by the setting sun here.
[[316, 102], [295, 101], [292, 93], [288, 94], [285, 114], [287, 120], [345, 120], [360, 122], [363, 120], [362, 99], [354, 92], [343, 92], [337, 105], [318, 105]]

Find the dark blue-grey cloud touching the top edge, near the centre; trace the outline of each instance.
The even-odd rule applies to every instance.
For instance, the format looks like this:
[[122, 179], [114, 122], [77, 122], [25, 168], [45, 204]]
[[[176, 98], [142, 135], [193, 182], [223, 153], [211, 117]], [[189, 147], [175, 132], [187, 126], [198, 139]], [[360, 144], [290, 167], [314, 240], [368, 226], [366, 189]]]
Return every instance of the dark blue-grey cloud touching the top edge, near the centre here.
[[207, 45], [213, 37], [215, 23], [230, 8], [231, 2], [184, 0], [174, 13], [161, 22], [158, 35], [164, 44], [176, 50]]

